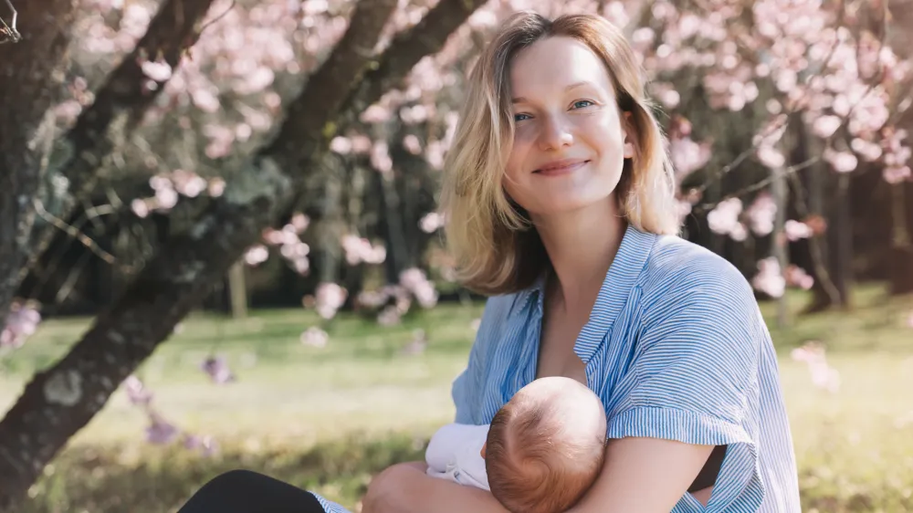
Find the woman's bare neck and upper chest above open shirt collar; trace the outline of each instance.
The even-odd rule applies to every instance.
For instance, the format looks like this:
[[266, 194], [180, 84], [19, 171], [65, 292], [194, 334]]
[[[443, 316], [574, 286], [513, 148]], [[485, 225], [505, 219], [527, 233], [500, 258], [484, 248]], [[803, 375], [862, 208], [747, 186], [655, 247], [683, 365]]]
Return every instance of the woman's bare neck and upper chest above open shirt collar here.
[[557, 283], [553, 303], [567, 312], [593, 309], [605, 274], [624, 238], [627, 222], [612, 200], [561, 215], [534, 219]]

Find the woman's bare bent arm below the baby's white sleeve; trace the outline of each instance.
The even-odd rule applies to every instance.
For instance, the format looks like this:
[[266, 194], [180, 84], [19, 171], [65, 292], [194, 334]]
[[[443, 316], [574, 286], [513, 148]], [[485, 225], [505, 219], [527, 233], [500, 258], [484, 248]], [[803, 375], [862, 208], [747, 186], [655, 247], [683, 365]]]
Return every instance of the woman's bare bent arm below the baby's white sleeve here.
[[362, 513], [508, 513], [490, 492], [427, 476], [425, 469], [424, 462], [402, 463], [375, 476]]

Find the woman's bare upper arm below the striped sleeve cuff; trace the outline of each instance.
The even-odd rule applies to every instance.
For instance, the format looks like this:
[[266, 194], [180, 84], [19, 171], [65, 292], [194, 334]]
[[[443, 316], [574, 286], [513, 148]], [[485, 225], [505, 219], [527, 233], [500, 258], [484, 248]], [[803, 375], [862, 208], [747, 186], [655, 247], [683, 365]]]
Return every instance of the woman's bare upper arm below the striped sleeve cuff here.
[[669, 513], [712, 451], [661, 438], [609, 440], [602, 474], [569, 513]]

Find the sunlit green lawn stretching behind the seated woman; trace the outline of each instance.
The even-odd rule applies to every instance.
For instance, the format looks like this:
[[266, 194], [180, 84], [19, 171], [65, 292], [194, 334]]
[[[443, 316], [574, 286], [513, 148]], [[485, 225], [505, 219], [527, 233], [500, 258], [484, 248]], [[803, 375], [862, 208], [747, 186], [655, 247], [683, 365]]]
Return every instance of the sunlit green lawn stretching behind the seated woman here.
[[[793, 294], [792, 309], [803, 305]], [[859, 288], [855, 309], [773, 326], [783, 390], [800, 468], [803, 510], [913, 511], [913, 298], [887, 301]], [[116, 393], [73, 438], [33, 487], [24, 513], [165, 513], [217, 473], [246, 467], [277, 476], [355, 508], [373, 473], [420, 459], [427, 437], [453, 418], [450, 382], [466, 364], [472, 319], [481, 306], [446, 306], [383, 328], [343, 316], [326, 348], [299, 334], [317, 319], [303, 310], [257, 311], [241, 320], [194, 316], [137, 375], [156, 408], [193, 433], [212, 434], [218, 455], [147, 445], [145, 417]], [[88, 320], [52, 320], [0, 359], [0, 411], [31, 372], [64, 354]], [[412, 330], [427, 351], [405, 355]], [[841, 388], [813, 388], [789, 352], [820, 340], [840, 372]], [[238, 381], [215, 385], [198, 365], [226, 356]]]

